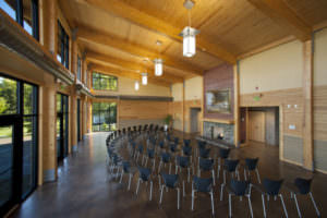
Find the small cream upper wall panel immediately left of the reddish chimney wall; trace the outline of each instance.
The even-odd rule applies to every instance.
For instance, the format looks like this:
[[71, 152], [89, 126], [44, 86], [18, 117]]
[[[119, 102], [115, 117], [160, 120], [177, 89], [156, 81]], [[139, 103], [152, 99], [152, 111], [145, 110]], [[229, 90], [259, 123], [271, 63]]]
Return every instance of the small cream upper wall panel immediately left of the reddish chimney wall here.
[[185, 100], [203, 98], [203, 76], [196, 76], [185, 81]]

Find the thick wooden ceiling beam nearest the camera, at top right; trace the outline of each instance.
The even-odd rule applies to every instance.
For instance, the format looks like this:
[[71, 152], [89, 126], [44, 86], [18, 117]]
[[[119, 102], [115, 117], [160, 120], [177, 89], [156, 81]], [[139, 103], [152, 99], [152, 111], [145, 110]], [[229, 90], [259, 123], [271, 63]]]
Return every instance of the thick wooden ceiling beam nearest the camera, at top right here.
[[283, 0], [247, 1], [300, 40], [305, 41], [311, 38], [312, 27], [290, 9]]

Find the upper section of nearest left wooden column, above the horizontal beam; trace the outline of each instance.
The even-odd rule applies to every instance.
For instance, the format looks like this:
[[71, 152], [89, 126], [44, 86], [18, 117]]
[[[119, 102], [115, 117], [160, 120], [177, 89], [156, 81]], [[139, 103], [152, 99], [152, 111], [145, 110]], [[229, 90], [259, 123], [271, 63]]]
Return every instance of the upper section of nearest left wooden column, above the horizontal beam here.
[[53, 56], [57, 52], [57, 0], [40, 0], [40, 41]]

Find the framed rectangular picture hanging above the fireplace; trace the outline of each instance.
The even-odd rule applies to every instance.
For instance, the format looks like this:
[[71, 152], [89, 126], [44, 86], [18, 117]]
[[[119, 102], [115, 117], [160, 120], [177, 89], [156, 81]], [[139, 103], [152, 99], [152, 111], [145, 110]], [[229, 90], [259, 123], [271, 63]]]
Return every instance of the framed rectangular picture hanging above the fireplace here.
[[213, 113], [231, 113], [231, 89], [207, 90], [206, 109]]

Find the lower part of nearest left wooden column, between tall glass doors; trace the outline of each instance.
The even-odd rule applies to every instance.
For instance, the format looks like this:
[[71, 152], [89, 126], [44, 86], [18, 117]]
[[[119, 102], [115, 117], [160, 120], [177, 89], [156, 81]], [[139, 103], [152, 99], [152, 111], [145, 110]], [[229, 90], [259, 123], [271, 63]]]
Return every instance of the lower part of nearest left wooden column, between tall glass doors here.
[[[40, 87], [40, 165], [43, 177], [39, 183], [55, 181], [57, 178], [57, 146], [56, 146], [56, 94], [55, 85]], [[40, 181], [41, 180], [41, 181]]]

